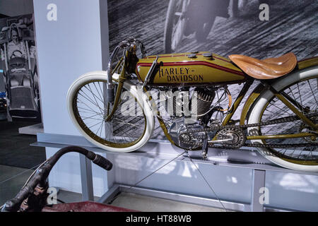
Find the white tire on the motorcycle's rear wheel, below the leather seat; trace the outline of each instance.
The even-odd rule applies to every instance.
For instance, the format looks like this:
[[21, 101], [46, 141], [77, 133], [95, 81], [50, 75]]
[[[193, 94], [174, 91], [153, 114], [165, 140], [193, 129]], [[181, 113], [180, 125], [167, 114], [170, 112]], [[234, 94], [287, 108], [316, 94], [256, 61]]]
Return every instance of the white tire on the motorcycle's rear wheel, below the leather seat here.
[[[318, 78], [318, 66], [312, 66], [307, 69], [303, 69], [300, 71], [295, 71], [294, 73], [291, 73], [288, 76], [285, 76], [285, 78], [281, 78], [276, 83], [273, 84], [273, 88], [280, 91], [283, 90], [283, 88], [287, 87], [288, 85], [291, 85], [293, 83], [296, 83], [297, 81], [300, 81], [302, 79], [306, 78], [312, 78], [317, 76]], [[266, 107], [266, 103], [271, 100], [273, 97], [273, 93], [271, 93], [270, 90], [266, 90], [265, 92], [261, 93], [261, 95], [258, 97], [257, 102], [255, 103], [254, 107], [252, 107], [252, 110], [249, 114], [249, 119], [247, 121], [248, 124], [255, 124], [259, 123], [261, 120], [261, 115], [264, 107]], [[259, 131], [259, 127], [250, 127], [247, 129], [247, 136], [258, 136], [260, 135], [261, 131]], [[251, 140], [252, 143], [263, 143], [261, 140]], [[266, 157], [271, 162], [280, 165], [282, 167], [286, 167], [289, 169], [295, 169], [295, 170], [303, 170], [303, 171], [311, 171], [311, 172], [318, 172], [318, 165], [300, 165], [294, 162], [286, 161], [281, 159], [280, 157], [277, 157], [276, 155], [273, 155], [271, 153], [271, 150], [269, 148], [258, 148], [259, 153]]]

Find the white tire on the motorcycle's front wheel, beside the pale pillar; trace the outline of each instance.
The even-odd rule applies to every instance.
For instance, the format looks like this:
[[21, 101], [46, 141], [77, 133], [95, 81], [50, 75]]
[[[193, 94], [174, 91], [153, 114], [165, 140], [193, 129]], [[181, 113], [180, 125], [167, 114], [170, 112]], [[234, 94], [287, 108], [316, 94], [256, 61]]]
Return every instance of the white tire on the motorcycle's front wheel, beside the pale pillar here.
[[[119, 77], [118, 74], [114, 73], [113, 79], [117, 80]], [[130, 83], [129, 81], [124, 82], [124, 89], [129, 91], [131, 95], [133, 95], [137, 102], [142, 104], [143, 108], [143, 115], [145, 117], [146, 126], [145, 130], [143, 132], [143, 135], [139, 138], [139, 141], [134, 143], [134, 145], [130, 145], [128, 147], [112, 147], [110, 145], [105, 145], [104, 143], [100, 143], [91, 136], [86, 133], [86, 131], [83, 130], [83, 128], [78, 124], [78, 121], [76, 119], [76, 115], [74, 114], [73, 109], [73, 100], [76, 96], [76, 93], [78, 92], [78, 89], [83, 86], [83, 84], [89, 83], [90, 81], [105, 81], [107, 83], [107, 72], [106, 71], [92, 71], [89, 73], [84, 74], [80, 78], [78, 78], [69, 88], [69, 92], [67, 93], [67, 108], [69, 110], [69, 115], [71, 117], [71, 121], [73, 122], [74, 126], [76, 126], [76, 129], [81, 132], [81, 134], [88, 140], [90, 143], [93, 143], [94, 145], [98, 146], [99, 148], [103, 148], [105, 150], [110, 150], [114, 152], [131, 152], [134, 150], [137, 150], [141, 148], [143, 145], [147, 143], [149, 138], [151, 138], [151, 135], [153, 133], [154, 128], [154, 117], [151, 111], [151, 105], [148, 102], [148, 99], [144, 93], [139, 92], [137, 90], [136, 86]]]

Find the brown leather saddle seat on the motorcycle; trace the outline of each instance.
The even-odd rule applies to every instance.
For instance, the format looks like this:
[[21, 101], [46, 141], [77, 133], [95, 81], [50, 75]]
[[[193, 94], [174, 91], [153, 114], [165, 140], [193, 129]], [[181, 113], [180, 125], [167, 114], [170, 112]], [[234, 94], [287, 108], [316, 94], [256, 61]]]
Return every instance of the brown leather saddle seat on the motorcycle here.
[[281, 57], [263, 60], [243, 55], [230, 55], [229, 57], [247, 75], [257, 79], [272, 79], [284, 76], [293, 71], [297, 65], [297, 58], [292, 52]]

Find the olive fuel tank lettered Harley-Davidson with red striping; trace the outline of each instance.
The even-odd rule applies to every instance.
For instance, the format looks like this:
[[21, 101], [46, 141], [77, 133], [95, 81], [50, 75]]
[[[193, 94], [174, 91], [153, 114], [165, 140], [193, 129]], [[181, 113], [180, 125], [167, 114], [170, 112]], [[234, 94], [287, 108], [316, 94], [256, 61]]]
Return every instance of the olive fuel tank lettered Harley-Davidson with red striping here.
[[[210, 55], [210, 56], [209, 56]], [[242, 83], [245, 73], [225, 57], [209, 52], [160, 54], [149, 85], [218, 85]], [[144, 81], [156, 56], [139, 59], [136, 75]]]

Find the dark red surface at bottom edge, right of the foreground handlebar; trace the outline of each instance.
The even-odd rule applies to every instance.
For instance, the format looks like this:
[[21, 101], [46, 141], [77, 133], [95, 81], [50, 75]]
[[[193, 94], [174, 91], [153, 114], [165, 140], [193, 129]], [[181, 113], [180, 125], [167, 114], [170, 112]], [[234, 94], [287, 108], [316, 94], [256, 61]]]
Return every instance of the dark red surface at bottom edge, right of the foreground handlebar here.
[[95, 203], [92, 201], [85, 201], [79, 203], [61, 203], [53, 206], [46, 206], [42, 212], [137, 212], [136, 210], [129, 210], [116, 206], [110, 206], [102, 203]]

